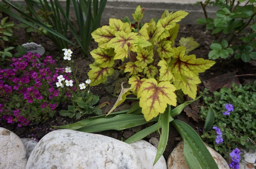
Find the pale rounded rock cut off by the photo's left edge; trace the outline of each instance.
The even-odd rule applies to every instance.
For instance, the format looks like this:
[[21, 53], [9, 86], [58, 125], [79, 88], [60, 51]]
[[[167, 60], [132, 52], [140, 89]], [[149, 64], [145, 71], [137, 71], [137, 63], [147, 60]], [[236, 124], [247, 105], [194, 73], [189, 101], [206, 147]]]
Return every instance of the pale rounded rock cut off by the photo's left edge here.
[[0, 168], [24, 169], [26, 167], [26, 149], [20, 138], [0, 127]]

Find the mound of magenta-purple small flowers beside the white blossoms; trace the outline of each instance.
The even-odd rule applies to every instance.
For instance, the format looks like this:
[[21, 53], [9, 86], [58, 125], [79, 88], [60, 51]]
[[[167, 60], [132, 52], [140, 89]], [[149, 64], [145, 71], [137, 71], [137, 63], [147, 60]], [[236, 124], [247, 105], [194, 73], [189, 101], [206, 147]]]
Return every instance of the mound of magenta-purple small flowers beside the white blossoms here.
[[17, 98], [15, 102], [24, 106], [23, 109], [14, 110], [12, 115], [5, 113], [3, 119], [7, 123], [17, 121], [19, 127], [29, 124], [30, 121], [26, 119], [29, 118], [29, 112], [27, 116], [24, 115], [26, 102], [35, 106], [41, 105], [42, 109], [48, 107], [50, 110], [54, 110], [58, 105], [53, 100], [59, 96], [59, 90], [55, 86], [57, 77], [63, 74], [65, 79], [68, 79], [70, 73], [66, 73], [64, 68], [52, 71], [50, 66], [55, 63], [52, 56], [46, 56], [42, 63], [39, 58], [41, 56], [38, 54], [27, 53], [20, 58], [13, 58], [11, 68], [0, 68], [0, 112], [10, 112], [8, 103], [14, 98]]

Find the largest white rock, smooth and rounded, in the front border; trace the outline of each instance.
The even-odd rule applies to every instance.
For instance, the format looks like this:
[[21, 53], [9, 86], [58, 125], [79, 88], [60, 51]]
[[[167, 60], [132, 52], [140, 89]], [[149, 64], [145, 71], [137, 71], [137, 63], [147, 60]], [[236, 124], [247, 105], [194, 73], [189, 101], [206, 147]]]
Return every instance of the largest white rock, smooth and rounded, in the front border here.
[[129, 144], [99, 134], [61, 129], [35, 146], [26, 169], [140, 169]]

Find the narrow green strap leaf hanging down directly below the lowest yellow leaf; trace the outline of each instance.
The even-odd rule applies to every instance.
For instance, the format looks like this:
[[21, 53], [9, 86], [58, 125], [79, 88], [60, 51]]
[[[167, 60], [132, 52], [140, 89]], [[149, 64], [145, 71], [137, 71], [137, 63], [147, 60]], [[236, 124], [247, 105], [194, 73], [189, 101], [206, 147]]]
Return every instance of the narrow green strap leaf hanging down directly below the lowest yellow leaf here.
[[162, 125], [162, 132], [159, 140], [159, 144], [157, 147], [157, 152], [154, 160], [154, 164], [159, 160], [159, 158], [163, 155], [163, 152], [166, 148], [168, 136], [169, 136], [169, 118], [171, 113], [171, 106], [168, 105], [167, 109], [165, 109], [165, 112], [161, 116], [161, 125]]

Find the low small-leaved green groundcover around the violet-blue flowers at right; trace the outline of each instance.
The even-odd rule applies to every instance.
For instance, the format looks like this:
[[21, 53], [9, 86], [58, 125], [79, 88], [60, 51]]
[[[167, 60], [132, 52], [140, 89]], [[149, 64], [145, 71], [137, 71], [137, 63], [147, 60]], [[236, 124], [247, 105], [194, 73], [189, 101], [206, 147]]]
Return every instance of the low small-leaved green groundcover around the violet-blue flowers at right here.
[[[256, 144], [256, 81], [254, 84], [233, 85], [233, 88], [222, 88], [219, 92], [209, 95], [208, 89], [203, 94], [204, 106], [201, 107], [201, 117], [206, 118], [208, 109], [215, 110], [213, 126], [221, 129], [224, 142], [216, 144], [215, 130], [204, 132], [203, 140], [213, 145], [224, 158], [235, 148], [255, 150]], [[223, 115], [225, 104], [232, 104], [234, 111]]]

